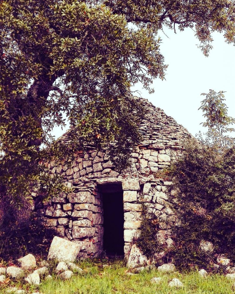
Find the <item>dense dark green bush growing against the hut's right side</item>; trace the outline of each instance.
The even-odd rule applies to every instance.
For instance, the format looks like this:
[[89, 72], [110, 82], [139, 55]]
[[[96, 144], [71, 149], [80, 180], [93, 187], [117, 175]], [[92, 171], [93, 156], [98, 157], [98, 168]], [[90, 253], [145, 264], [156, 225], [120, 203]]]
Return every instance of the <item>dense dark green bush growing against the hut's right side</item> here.
[[199, 250], [201, 240], [211, 241], [215, 253], [227, 253], [235, 260], [235, 148], [221, 154], [215, 146], [193, 139], [171, 173], [179, 191], [171, 252], [176, 263], [213, 264], [214, 257]]

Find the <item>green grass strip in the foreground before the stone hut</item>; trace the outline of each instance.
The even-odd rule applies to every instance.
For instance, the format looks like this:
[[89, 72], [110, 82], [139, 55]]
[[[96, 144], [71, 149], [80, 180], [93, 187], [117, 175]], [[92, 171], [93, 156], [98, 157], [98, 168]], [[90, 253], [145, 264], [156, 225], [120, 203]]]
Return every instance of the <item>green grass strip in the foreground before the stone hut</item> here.
[[[107, 263], [107, 261], [106, 261]], [[21, 283], [8, 284], [33, 293], [37, 290], [42, 294], [231, 294], [234, 293], [233, 282], [223, 275], [209, 275], [201, 278], [197, 271], [188, 273], [175, 272], [162, 274], [157, 270], [142, 272], [136, 275], [126, 275], [124, 264], [120, 261], [108, 263], [103, 268], [101, 261], [81, 261], [78, 265], [84, 269], [82, 274], [75, 274], [68, 281], [62, 281], [56, 276], [53, 280], [42, 282], [38, 287]], [[153, 277], [162, 277], [159, 285], [150, 283]], [[168, 283], [178, 278], [184, 288], [169, 288]], [[6, 285], [2, 285], [0, 293], [6, 293]]]

